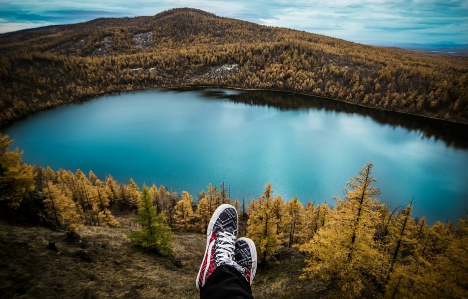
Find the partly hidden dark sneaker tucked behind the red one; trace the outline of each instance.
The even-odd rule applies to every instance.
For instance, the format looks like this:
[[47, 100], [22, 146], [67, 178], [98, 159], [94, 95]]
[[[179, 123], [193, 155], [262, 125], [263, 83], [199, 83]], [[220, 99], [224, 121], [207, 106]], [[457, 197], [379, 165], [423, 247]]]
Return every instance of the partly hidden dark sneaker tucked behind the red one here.
[[235, 242], [234, 261], [242, 267], [239, 271], [252, 285], [257, 272], [257, 249], [254, 242], [249, 238], [238, 238]]

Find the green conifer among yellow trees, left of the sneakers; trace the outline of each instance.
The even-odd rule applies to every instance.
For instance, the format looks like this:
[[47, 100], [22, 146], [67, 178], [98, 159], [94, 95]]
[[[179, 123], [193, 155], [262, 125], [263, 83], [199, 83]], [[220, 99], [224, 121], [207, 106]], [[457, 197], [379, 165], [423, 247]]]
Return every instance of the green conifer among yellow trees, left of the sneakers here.
[[138, 217], [135, 219], [141, 230], [127, 233], [134, 245], [155, 250], [163, 255], [172, 253], [173, 234], [164, 224], [164, 212], [156, 213], [148, 187], [143, 185], [138, 198]]

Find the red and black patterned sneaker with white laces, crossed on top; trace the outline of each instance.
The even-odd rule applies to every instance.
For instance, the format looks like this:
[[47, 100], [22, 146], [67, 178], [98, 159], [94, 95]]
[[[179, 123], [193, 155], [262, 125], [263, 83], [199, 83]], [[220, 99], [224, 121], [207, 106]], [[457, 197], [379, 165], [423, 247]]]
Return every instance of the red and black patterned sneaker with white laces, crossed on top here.
[[221, 265], [241, 267], [234, 262], [235, 238], [237, 237], [237, 211], [230, 204], [220, 205], [211, 216], [206, 231], [206, 249], [198, 271], [195, 285], [201, 290], [211, 273]]

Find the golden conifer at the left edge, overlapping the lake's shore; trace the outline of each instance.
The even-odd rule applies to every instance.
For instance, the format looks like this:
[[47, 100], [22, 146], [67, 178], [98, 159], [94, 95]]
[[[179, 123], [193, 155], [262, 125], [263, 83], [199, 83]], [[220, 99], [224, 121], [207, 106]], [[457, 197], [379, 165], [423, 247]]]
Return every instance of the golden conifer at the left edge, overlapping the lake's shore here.
[[13, 140], [0, 135], [0, 201], [16, 208], [34, 190], [33, 167], [23, 163], [18, 148], [9, 151]]

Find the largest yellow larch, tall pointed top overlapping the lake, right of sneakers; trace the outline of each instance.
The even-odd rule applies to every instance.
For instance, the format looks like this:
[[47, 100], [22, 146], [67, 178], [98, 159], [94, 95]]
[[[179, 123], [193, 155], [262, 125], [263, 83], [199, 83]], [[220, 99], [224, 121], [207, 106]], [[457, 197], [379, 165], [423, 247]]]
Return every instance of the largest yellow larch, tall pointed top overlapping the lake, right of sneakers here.
[[325, 226], [301, 246], [307, 255], [302, 277], [323, 281], [347, 298], [379, 296], [385, 279], [384, 256], [373, 240], [379, 190], [371, 186], [371, 169], [368, 164], [351, 178]]

